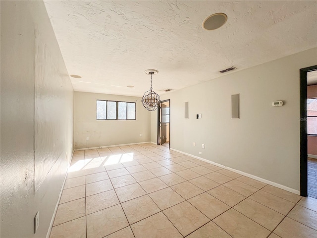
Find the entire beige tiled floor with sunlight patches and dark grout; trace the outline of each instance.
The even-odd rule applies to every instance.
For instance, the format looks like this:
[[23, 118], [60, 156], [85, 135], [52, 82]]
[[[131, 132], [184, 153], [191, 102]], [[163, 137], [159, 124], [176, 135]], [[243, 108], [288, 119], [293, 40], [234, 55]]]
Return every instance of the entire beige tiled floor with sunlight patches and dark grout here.
[[166, 146], [76, 151], [51, 233], [57, 237], [313, 238], [317, 199]]

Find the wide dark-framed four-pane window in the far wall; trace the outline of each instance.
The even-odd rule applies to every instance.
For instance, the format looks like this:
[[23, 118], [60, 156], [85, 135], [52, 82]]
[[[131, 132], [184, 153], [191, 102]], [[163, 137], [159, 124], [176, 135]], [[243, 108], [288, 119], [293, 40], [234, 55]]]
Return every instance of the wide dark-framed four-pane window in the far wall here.
[[135, 103], [97, 100], [97, 120], [135, 120]]

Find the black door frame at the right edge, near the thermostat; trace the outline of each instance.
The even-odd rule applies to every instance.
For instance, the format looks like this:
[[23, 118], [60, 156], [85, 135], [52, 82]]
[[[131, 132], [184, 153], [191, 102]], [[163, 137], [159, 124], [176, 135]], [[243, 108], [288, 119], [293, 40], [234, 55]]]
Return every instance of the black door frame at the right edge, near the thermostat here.
[[307, 197], [307, 73], [317, 65], [299, 70], [300, 77], [300, 193]]

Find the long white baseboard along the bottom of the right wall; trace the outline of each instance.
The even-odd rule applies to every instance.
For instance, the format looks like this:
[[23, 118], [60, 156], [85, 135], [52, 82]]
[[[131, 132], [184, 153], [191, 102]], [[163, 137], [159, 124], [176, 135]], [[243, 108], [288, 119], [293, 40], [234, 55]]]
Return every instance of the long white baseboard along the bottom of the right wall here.
[[283, 190], [286, 190], [286, 191], [295, 193], [295, 194], [297, 194], [297, 195], [300, 195], [300, 191], [298, 191], [298, 190], [296, 190], [296, 189], [294, 189], [294, 188], [287, 187], [287, 186], [284, 186], [284, 185], [282, 185], [282, 184], [279, 184], [279, 183], [276, 183], [276, 182], [272, 182], [272, 181], [270, 181], [270, 180], [262, 179], [262, 178], [260, 178], [260, 177], [257, 177], [257, 176], [250, 175], [250, 174], [248, 174], [248, 173], [242, 172], [242, 171], [240, 171], [240, 170], [232, 169], [232, 168], [230, 168], [230, 167], [227, 167], [227, 166], [224, 166], [224, 165], [221, 165], [221, 164], [212, 162], [212, 161], [210, 161], [210, 160], [206, 160], [206, 159], [204, 159], [204, 158], [201, 158], [201, 157], [198, 157], [198, 156], [195, 156], [195, 155], [191, 155], [191, 154], [188, 154], [188, 153], [179, 151], [179, 150], [175, 150], [175, 149], [172, 149], [172, 148], [170, 148], [170, 150], [179, 152], [179, 153], [184, 154], [184, 155], [191, 156], [191, 157], [193, 157], [193, 158], [196, 158], [196, 159], [205, 161], [205, 162], [207, 162], [207, 163], [210, 163], [210, 164], [212, 164], [212, 165], [218, 166], [218, 167], [220, 167], [220, 168], [223, 168], [223, 169], [226, 169], [226, 170], [235, 172], [235, 173], [237, 173], [237, 174], [240, 174], [240, 175], [249, 177], [249, 178], [251, 178], [251, 179], [255, 179], [255, 180], [258, 180], [258, 181], [260, 181], [260, 182], [264, 182], [264, 183], [266, 183], [266, 184], [272, 185], [272, 186], [274, 186], [274, 187], [278, 187], [278, 188], [281, 188], [281, 189], [283, 189]]

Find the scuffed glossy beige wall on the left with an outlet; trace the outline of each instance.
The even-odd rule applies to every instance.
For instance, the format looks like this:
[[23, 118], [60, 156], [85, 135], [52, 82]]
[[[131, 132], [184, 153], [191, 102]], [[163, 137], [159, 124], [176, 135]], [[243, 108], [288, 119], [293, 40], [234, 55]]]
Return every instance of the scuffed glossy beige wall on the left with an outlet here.
[[43, 238], [73, 151], [73, 89], [44, 3], [0, 8], [0, 236]]

